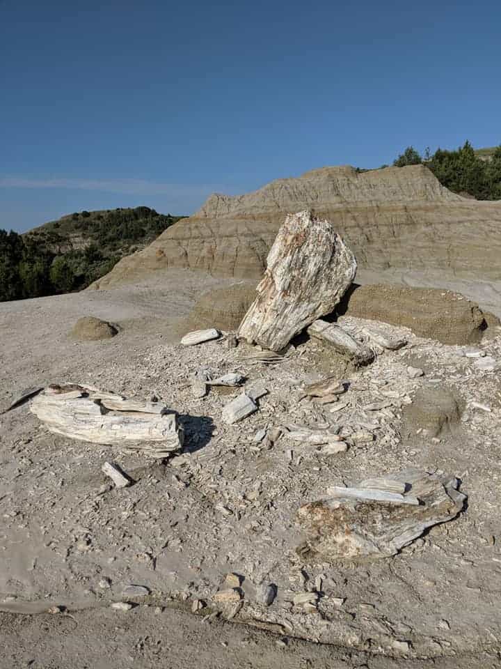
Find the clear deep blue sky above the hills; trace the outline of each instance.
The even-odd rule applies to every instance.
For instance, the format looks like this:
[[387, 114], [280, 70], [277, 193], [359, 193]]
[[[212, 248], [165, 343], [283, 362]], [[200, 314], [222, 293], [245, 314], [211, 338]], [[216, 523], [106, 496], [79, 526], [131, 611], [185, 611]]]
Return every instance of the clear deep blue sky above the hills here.
[[499, 0], [0, 0], [0, 227], [501, 143]]

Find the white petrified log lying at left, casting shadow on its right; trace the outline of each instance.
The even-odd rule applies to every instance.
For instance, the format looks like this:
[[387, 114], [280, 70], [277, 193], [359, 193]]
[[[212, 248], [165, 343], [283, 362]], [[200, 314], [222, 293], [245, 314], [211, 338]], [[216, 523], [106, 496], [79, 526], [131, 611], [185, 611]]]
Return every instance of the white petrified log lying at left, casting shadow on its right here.
[[129, 400], [84, 385], [51, 385], [31, 400], [31, 412], [56, 434], [137, 449], [163, 458], [182, 447], [177, 415], [159, 403]]

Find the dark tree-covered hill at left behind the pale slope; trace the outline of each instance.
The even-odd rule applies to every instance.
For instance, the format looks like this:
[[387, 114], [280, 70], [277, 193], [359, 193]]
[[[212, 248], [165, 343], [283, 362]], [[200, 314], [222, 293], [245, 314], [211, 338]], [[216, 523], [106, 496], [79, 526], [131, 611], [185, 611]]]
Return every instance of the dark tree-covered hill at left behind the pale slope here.
[[82, 211], [24, 235], [0, 229], [0, 301], [83, 289], [178, 220], [136, 207]]

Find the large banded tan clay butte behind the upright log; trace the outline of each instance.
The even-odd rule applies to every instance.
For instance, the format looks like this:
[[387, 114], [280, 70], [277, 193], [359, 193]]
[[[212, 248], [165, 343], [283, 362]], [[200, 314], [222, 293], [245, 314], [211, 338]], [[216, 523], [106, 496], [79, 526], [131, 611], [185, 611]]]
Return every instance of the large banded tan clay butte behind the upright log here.
[[214, 194], [92, 287], [137, 282], [173, 267], [257, 282], [285, 216], [305, 209], [334, 224], [359, 268], [501, 279], [501, 202], [463, 198], [414, 165], [363, 173], [325, 167], [238, 197]]

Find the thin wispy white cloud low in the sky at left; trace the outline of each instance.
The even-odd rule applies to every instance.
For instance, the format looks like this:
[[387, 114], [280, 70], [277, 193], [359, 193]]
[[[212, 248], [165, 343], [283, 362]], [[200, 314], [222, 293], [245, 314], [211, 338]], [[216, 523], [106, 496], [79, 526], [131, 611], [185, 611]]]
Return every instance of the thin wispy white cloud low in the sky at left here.
[[168, 195], [176, 197], [207, 197], [224, 192], [218, 184], [162, 183], [145, 179], [84, 179], [0, 177], [0, 188], [63, 188], [90, 190], [126, 195]]

